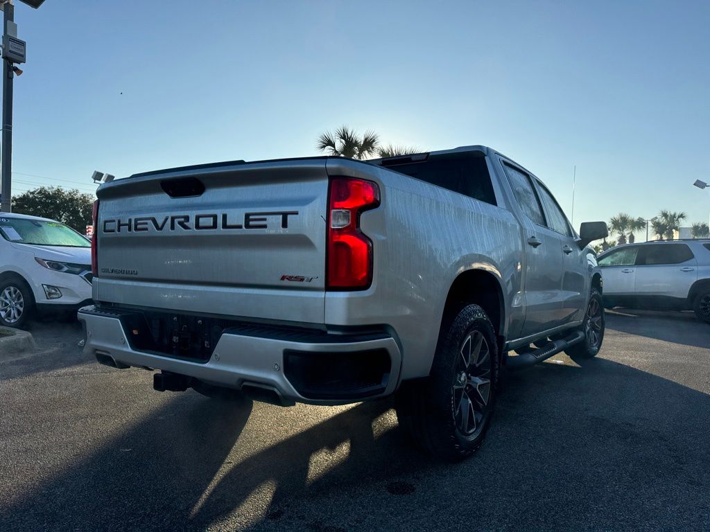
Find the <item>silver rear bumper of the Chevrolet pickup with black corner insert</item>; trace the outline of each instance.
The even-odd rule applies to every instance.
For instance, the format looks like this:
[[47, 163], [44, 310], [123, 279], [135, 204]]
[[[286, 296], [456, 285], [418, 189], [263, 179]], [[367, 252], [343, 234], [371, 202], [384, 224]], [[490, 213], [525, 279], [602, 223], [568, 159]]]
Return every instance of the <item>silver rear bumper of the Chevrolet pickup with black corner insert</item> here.
[[208, 360], [195, 361], [134, 349], [121, 316], [113, 309], [80, 309], [87, 335], [84, 353], [116, 367], [163, 370], [234, 389], [267, 389], [282, 404], [347, 404], [384, 397], [398, 385], [400, 349], [384, 332], [233, 327], [222, 333]]

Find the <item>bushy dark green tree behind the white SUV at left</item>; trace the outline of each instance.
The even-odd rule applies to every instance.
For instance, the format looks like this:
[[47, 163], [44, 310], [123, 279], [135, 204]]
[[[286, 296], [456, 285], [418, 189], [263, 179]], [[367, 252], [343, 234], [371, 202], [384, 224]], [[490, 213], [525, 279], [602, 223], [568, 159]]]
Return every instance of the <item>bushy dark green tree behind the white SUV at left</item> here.
[[82, 194], [77, 189], [39, 187], [13, 197], [12, 211], [66, 223], [83, 235], [92, 223], [94, 199], [93, 194]]

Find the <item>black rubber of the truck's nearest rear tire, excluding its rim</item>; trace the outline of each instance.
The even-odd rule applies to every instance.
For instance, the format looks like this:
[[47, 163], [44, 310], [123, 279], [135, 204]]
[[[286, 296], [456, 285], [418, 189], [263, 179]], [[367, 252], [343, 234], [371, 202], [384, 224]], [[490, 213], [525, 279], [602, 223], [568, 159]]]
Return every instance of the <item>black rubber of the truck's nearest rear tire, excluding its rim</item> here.
[[[491, 353], [491, 410], [478, 436], [462, 441], [457, 436], [452, 414], [451, 387], [459, 345], [467, 334], [476, 330], [484, 333]], [[395, 397], [400, 426], [422, 450], [436, 458], [457, 462], [470, 456], [481, 446], [491, 425], [500, 363], [496, 332], [486, 312], [478, 305], [464, 306], [439, 337], [430, 377], [405, 382]]]

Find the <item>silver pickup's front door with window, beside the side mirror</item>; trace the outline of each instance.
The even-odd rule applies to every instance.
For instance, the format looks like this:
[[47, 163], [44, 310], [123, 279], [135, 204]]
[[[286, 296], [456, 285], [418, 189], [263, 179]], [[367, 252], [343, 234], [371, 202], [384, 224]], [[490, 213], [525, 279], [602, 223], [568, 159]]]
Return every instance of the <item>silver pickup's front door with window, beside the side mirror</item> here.
[[560, 287], [562, 314], [560, 318], [562, 323], [578, 321], [584, 318], [589, 294], [587, 252], [579, 249], [567, 216], [564, 216], [555, 197], [541, 182], [537, 181], [536, 184], [542, 207], [545, 209], [547, 227], [559, 236], [559, 247], [562, 252], [562, 285]]

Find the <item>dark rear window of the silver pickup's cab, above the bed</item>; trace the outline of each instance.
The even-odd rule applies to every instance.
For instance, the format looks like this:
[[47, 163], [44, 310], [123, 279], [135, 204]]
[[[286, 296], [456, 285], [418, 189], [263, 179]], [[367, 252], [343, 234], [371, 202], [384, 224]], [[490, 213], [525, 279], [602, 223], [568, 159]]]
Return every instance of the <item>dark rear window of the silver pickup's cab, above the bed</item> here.
[[491, 205], [498, 205], [486, 157], [471, 153], [434, 155], [417, 162], [383, 167], [458, 192]]

